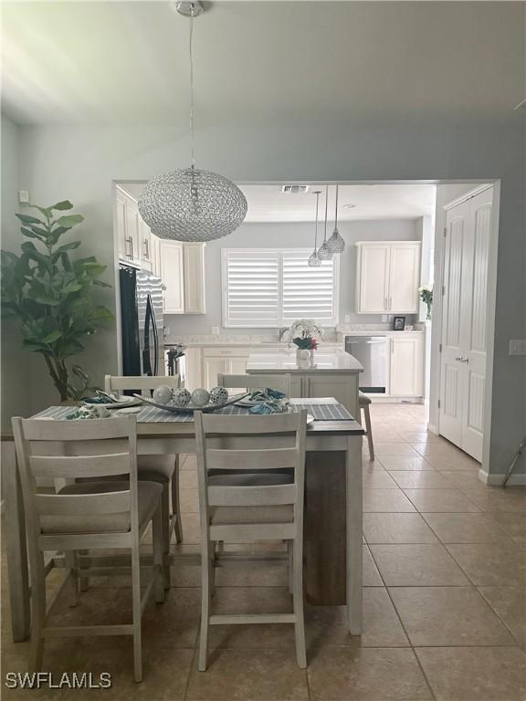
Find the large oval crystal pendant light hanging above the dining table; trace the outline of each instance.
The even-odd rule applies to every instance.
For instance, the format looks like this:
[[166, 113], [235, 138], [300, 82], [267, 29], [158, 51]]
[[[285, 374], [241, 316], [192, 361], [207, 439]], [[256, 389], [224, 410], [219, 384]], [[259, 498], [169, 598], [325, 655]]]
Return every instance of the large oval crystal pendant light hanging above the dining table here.
[[237, 185], [222, 175], [195, 168], [194, 18], [200, 2], [179, 2], [180, 15], [190, 17], [190, 168], [163, 173], [146, 184], [139, 197], [142, 219], [161, 238], [211, 241], [232, 234], [247, 214], [247, 200]]

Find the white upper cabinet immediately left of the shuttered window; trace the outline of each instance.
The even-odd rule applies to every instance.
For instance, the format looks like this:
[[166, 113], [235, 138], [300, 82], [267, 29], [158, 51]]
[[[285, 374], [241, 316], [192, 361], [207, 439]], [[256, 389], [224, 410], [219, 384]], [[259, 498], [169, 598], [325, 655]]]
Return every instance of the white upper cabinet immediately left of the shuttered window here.
[[205, 245], [159, 241], [165, 314], [205, 313]]

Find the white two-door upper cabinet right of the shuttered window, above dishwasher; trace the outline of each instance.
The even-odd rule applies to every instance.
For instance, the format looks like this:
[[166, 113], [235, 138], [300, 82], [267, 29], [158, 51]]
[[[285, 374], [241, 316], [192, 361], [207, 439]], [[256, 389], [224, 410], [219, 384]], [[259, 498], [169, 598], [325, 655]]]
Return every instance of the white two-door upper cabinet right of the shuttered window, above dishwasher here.
[[366, 241], [356, 246], [357, 312], [416, 314], [420, 242]]

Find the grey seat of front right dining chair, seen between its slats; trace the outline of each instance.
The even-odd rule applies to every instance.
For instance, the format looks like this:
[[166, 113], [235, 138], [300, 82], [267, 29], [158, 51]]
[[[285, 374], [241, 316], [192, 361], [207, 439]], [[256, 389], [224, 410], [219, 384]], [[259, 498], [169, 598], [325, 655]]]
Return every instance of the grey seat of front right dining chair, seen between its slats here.
[[[211, 476], [210, 487], [262, 487], [293, 484], [294, 476], [284, 473], [245, 472]], [[238, 523], [292, 523], [294, 507], [210, 507], [210, 524], [226, 526]]]

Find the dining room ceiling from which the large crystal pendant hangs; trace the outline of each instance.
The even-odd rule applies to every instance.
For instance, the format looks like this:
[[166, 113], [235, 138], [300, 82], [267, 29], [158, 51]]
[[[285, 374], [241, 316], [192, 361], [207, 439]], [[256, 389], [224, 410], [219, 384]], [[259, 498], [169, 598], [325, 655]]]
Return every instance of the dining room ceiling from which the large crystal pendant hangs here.
[[[221, 126], [489, 118], [524, 98], [522, 3], [215, 2], [195, 20], [195, 120]], [[188, 130], [174, 3], [2, 3], [3, 109], [22, 123]], [[257, 148], [257, 144], [254, 144]], [[286, 154], [284, 154], [286, 158]]]

